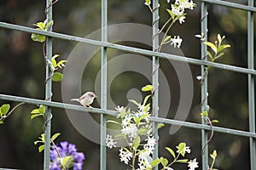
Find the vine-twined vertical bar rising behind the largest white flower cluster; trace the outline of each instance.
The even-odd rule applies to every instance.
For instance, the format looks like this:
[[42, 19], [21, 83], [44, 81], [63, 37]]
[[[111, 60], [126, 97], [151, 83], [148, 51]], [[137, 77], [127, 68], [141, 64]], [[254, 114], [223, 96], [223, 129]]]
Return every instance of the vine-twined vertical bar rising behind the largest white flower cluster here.
[[[159, 0], [154, 0], [153, 1], [153, 51], [157, 51], [159, 48], [159, 7], [160, 3]], [[152, 112], [153, 116], [158, 116], [158, 98], [159, 98], [159, 57], [153, 56], [153, 61], [152, 61], [152, 85], [154, 87], [153, 91], [153, 97], [152, 97]], [[158, 139], [158, 127], [157, 127], [157, 122], [153, 122], [153, 132], [154, 132], [154, 139]], [[158, 157], [158, 142], [155, 144], [154, 147], [154, 152], [153, 152], [153, 159]], [[154, 167], [154, 170], [157, 170], [158, 167]]]

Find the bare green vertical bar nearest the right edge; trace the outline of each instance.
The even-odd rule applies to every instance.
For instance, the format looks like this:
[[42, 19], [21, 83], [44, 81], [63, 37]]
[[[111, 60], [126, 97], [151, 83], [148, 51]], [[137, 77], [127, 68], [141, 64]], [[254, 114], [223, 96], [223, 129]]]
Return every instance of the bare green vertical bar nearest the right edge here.
[[[248, 0], [248, 6], [253, 7], [254, 0]], [[253, 44], [253, 12], [247, 12], [247, 50], [248, 50], [248, 68], [254, 69], [254, 44]], [[248, 111], [249, 111], [249, 130], [255, 133], [255, 93], [254, 93], [254, 77], [248, 74]], [[256, 169], [256, 140], [250, 138], [250, 159], [251, 169]]]

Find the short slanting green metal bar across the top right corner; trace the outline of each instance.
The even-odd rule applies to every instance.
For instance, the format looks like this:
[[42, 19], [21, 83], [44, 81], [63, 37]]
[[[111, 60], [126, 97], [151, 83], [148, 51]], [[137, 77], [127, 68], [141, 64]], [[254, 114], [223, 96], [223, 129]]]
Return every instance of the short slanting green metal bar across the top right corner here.
[[227, 1], [220, 1], [220, 0], [200, 0], [202, 2], [206, 2], [206, 3], [214, 3], [214, 4], [218, 4], [218, 5], [222, 5], [225, 7], [230, 7], [230, 8], [238, 8], [238, 9], [242, 9], [242, 10], [247, 10], [250, 12], [256, 12], [256, 8], [252, 7], [252, 6], [247, 6], [247, 5], [242, 5], [239, 3], [230, 3]]

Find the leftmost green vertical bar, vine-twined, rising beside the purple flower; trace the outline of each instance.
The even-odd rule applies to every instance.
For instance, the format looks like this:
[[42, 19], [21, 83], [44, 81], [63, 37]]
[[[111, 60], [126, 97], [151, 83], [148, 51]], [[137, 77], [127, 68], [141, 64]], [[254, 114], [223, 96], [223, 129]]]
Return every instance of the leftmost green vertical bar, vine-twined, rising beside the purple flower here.
[[[52, 6], [50, 5], [51, 0], [46, 0], [46, 19], [52, 20]], [[52, 31], [51, 26], [48, 31]], [[51, 60], [52, 57], [52, 38], [46, 37], [46, 57]], [[45, 81], [45, 99], [51, 101], [51, 74], [52, 72], [49, 69], [49, 63], [46, 63], [46, 81]], [[50, 145], [50, 119], [51, 119], [51, 108], [47, 107], [45, 111], [45, 124], [44, 124], [44, 170], [49, 170], [49, 145]]]

